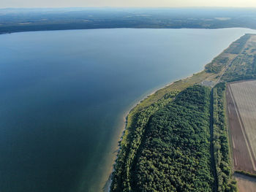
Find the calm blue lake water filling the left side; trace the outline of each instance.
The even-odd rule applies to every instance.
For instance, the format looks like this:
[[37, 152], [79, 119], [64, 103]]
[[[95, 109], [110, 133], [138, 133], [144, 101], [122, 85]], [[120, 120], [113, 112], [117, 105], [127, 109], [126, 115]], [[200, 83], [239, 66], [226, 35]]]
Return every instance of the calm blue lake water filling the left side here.
[[245, 33], [96, 29], [0, 35], [0, 191], [102, 191], [124, 115]]

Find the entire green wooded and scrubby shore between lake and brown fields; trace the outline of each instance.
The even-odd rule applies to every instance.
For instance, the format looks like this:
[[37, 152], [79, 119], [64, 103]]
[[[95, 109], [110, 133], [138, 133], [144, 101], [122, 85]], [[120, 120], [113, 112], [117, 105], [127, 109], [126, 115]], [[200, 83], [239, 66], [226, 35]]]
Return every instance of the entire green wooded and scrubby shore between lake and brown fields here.
[[[111, 191], [237, 191], [225, 82], [256, 77], [251, 37], [241, 37], [203, 72], [160, 89], [129, 113]], [[199, 84], [219, 80], [210, 99], [211, 89]]]

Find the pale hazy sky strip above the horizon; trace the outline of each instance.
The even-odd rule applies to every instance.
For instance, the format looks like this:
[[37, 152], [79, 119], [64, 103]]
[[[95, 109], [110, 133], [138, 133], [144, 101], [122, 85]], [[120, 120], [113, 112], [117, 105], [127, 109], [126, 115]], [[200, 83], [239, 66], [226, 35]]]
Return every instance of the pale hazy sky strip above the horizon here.
[[1, 0], [0, 7], [256, 7], [256, 0]]

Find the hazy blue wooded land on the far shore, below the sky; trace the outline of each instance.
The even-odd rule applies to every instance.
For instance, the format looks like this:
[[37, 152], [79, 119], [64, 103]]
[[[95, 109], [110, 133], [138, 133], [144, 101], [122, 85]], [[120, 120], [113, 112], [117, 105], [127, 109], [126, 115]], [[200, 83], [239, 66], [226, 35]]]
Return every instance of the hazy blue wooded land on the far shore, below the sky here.
[[255, 18], [256, 8], [10, 8], [0, 9], [0, 34], [95, 28], [256, 29]]

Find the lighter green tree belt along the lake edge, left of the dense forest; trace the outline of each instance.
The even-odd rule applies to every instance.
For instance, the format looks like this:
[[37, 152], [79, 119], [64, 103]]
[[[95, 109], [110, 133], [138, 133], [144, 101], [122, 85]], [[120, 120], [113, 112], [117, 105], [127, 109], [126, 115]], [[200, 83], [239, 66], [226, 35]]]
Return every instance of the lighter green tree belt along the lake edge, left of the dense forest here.
[[148, 119], [154, 112], [169, 104], [177, 93], [178, 91], [171, 91], [151, 106], [143, 110], [133, 110], [129, 114], [130, 123], [127, 123], [127, 129], [120, 143], [120, 151], [113, 174], [112, 191], [130, 191], [130, 169], [138, 147], [140, 147]]

